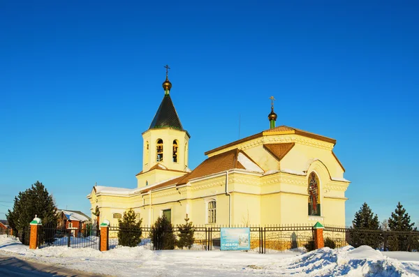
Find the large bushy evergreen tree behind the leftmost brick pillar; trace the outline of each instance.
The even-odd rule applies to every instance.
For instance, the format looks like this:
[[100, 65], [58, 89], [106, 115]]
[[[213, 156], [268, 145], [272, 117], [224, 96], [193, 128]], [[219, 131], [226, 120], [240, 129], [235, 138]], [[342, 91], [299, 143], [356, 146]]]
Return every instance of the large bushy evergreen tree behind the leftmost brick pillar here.
[[[57, 207], [55, 207], [52, 195], [39, 181], [36, 181], [31, 188], [20, 192], [15, 197], [13, 210], [9, 209], [6, 214], [8, 223], [16, 234], [22, 234], [22, 231], [29, 227], [29, 223], [35, 216], [41, 218], [43, 226], [57, 226]], [[40, 241], [43, 242], [42, 235]]]

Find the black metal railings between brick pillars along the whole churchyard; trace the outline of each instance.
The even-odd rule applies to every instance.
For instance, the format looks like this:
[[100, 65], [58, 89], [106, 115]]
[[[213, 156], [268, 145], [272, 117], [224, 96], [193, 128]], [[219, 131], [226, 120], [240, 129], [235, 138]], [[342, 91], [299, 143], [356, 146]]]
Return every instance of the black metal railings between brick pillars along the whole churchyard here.
[[[161, 237], [152, 232], [152, 226], [142, 226], [140, 229], [124, 229], [117, 226], [108, 227], [108, 249], [128, 244], [135, 239], [135, 245], [145, 246], [150, 250], [186, 249], [186, 250], [219, 250], [221, 246], [221, 228], [224, 225], [193, 226], [193, 244], [187, 247], [173, 244], [171, 248], [161, 244]], [[232, 227], [246, 227], [235, 225]], [[285, 250], [304, 252], [314, 248], [314, 230], [311, 225], [268, 225], [265, 227], [251, 226], [250, 251], [256, 253], [274, 253]], [[1, 230], [0, 230], [1, 232]], [[119, 237], [124, 232], [125, 242]], [[174, 241], [179, 240], [181, 227], [172, 227], [170, 236]], [[184, 232], [184, 231], [183, 231]], [[167, 233], [167, 232], [166, 232]], [[163, 236], [167, 234], [159, 234]], [[17, 233], [22, 244], [29, 245], [30, 227], [25, 227]], [[413, 251], [419, 252], [419, 231], [397, 232], [383, 230], [355, 230], [352, 227], [325, 225], [323, 229], [325, 246], [339, 248], [351, 245], [371, 246], [383, 251]], [[139, 243], [137, 243], [137, 241]], [[94, 248], [99, 250], [101, 237], [99, 230], [78, 229], [68, 230], [57, 227], [41, 226], [38, 232], [39, 248], [47, 246], [68, 246], [71, 248]], [[305, 248], [305, 249], [304, 249]]]

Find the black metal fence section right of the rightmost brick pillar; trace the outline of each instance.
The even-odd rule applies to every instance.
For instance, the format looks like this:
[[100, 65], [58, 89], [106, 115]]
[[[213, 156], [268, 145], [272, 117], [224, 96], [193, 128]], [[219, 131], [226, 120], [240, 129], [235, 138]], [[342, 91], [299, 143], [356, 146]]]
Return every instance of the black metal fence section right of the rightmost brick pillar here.
[[[351, 227], [325, 226], [326, 246], [371, 246], [382, 251], [419, 251], [419, 231], [399, 232], [383, 230], [356, 230]], [[330, 245], [328, 245], [330, 244]]]

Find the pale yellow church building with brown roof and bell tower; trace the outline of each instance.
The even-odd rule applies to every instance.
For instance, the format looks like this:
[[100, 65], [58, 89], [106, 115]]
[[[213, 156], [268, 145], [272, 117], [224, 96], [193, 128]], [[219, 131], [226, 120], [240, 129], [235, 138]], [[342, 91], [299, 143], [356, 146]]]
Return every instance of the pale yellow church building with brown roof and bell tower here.
[[94, 186], [87, 195], [92, 220], [118, 225], [133, 209], [143, 225], [166, 216], [173, 225], [187, 216], [194, 225], [345, 225], [349, 181], [333, 153], [336, 140], [275, 126], [205, 152], [190, 170], [189, 139], [170, 98], [172, 84], [149, 128], [142, 133], [142, 171], [137, 188]]

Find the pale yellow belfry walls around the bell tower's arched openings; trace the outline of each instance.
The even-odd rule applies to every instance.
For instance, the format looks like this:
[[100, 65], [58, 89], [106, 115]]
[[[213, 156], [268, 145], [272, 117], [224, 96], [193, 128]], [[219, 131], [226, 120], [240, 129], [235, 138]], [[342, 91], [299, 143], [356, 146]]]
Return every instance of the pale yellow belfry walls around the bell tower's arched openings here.
[[[185, 170], [188, 156], [188, 149], [185, 146], [189, 142], [189, 136], [186, 131], [171, 128], [149, 129], [142, 133], [142, 138], [145, 151], [142, 160], [143, 172], [147, 172], [156, 163], [161, 163], [171, 170]], [[163, 140], [163, 161], [156, 160], [156, 144], [159, 139]], [[172, 160], [173, 140], [177, 140], [179, 146], [176, 163]], [[147, 142], [149, 144], [148, 153]]]

